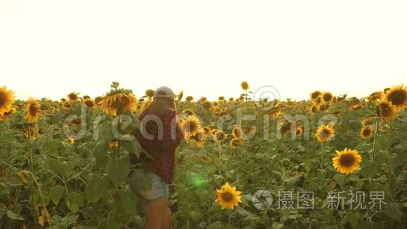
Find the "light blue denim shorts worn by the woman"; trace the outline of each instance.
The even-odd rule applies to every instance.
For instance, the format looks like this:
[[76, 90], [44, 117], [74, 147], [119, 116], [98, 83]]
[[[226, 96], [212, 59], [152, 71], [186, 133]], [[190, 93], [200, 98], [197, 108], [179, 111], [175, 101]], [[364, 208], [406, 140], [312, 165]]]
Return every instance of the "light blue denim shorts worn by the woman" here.
[[150, 171], [147, 171], [145, 176], [151, 183], [151, 189], [135, 190], [140, 197], [147, 200], [147, 202], [156, 202], [168, 197], [168, 183], [165, 183], [158, 175]]

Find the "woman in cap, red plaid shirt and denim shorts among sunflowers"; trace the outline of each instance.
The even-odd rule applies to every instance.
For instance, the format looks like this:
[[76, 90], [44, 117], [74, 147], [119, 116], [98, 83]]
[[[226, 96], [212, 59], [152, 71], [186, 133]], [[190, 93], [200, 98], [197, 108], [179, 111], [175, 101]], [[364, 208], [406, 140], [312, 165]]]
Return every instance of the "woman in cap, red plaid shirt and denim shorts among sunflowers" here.
[[[140, 155], [147, 165], [146, 177], [151, 189], [135, 188], [142, 197], [146, 213], [146, 228], [170, 228], [171, 211], [168, 208], [168, 184], [173, 181], [175, 148], [183, 133], [176, 118], [174, 93], [166, 86], [156, 89], [152, 103], [139, 116], [140, 131], [136, 134], [142, 148], [151, 156]], [[137, 162], [131, 154], [131, 161]]]

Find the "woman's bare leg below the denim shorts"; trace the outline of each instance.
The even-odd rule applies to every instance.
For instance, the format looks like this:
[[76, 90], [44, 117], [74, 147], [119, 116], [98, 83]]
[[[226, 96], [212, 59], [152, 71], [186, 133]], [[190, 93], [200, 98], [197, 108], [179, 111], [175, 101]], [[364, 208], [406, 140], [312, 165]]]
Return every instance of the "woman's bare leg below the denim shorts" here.
[[[164, 228], [168, 214], [168, 197], [156, 202], [144, 201], [146, 214], [146, 229]], [[169, 228], [169, 225], [167, 226]]]

